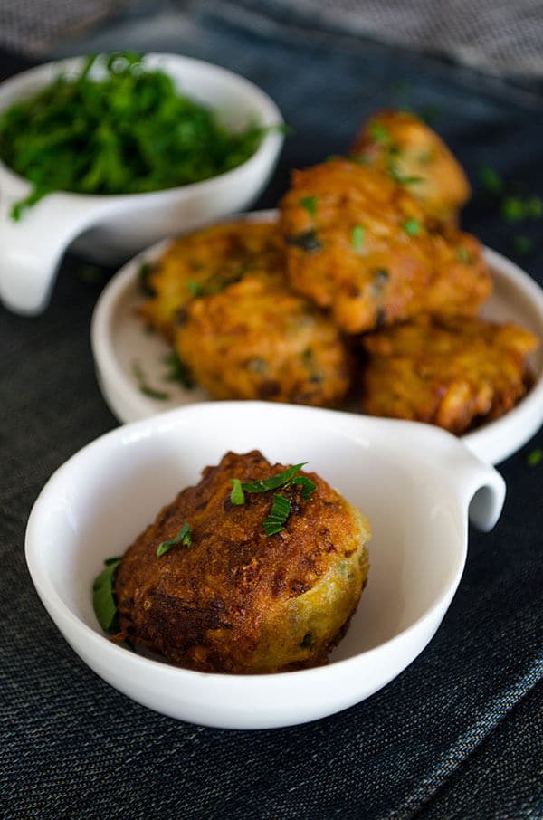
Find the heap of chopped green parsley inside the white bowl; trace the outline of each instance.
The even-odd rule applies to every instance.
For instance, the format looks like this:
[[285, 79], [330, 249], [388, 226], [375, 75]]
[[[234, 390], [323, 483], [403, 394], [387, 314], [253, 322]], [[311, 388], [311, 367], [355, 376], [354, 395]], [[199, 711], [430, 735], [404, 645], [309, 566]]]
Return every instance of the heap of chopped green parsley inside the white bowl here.
[[136, 194], [241, 165], [268, 129], [233, 132], [134, 52], [91, 56], [0, 115], [0, 157], [33, 183], [13, 218], [52, 191]]

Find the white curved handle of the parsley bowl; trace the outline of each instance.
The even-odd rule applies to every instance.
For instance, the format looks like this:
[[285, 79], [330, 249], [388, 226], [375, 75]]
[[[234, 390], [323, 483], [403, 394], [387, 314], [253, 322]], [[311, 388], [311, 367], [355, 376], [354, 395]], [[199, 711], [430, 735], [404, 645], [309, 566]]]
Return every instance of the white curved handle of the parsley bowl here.
[[[7, 195], [6, 195], [7, 194]], [[36, 315], [47, 307], [62, 254], [83, 230], [108, 215], [102, 197], [52, 194], [11, 216], [13, 196], [0, 199], [0, 300], [15, 313]]]

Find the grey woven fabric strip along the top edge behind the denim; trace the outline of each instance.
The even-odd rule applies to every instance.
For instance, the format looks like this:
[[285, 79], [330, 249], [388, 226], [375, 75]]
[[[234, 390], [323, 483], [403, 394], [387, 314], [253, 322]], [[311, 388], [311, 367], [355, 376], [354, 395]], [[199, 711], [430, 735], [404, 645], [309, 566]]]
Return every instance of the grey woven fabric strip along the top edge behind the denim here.
[[540, 0], [2, 0], [0, 46], [43, 58], [106, 21], [123, 28], [147, 16], [183, 24], [214, 8], [224, 18], [262, 26], [271, 15], [378, 42], [448, 54], [487, 72], [543, 77]]

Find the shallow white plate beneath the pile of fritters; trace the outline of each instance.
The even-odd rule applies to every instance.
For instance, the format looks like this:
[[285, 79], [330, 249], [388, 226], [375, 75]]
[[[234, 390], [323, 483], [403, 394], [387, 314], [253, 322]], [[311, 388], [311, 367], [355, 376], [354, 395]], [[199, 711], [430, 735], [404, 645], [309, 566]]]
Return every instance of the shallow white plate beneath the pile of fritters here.
[[[254, 212], [243, 218], [271, 221], [274, 211]], [[91, 343], [100, 389], [121, 422], [132, 422], [171, 407], [209, 399], [202, 388], [186, 390], [165, 381], [164, 359], [170, 348], [157, 334], [146, 333], [136, 309], [143, 297], [139, 290], [141, 264], [162, 253], [164, 243], [149, 248], [126, 264], [100, 296], [92, 319]], [[529, 275], [500, 253], [485, 250], [491, 265], [494, 292], [483, 315], [497, 321], [513, 321], [543, 338], [543, 291]], [[484, 424], [462, 441], [484, 461], [497, 464], [514, 453], [536, 433], [543, 422], [543, 345], [529, 359], [535, 384], [529, 394], [507, 415]], [[157, 400], [142, 393], [134, 366], [145, 375], [148, 386], [166, 393]]]

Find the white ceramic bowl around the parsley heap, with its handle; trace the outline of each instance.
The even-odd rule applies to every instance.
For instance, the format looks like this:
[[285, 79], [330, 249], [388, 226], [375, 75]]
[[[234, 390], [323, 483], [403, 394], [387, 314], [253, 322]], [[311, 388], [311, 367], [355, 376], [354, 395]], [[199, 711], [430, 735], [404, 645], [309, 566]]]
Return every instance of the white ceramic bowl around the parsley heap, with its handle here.
[[[82, 60], [46, 63], [5, 81], [0, 111], [39, 91], [58, 72], [76, 71]], [[229, 128], [282, 122], [270, 97], [233, 72], [176, 54], [148, 54], [145, 63], [170, 74], [181, 93], [214, 109]], [[117, 263], [181, 225], [193, 229], [243, 210], [270, 178], [282, 141], [280, 130], [272, 129], [243, 165], [194, 185], [149, 194], [55, 193], [25, 211], [20, 222], [11, 219], [11, 207], [32, 186], [0, 162], [0, 299], [16, 312], [43, 310], [62, 254], [76, 237], [74, 249], [90, 260]]]

